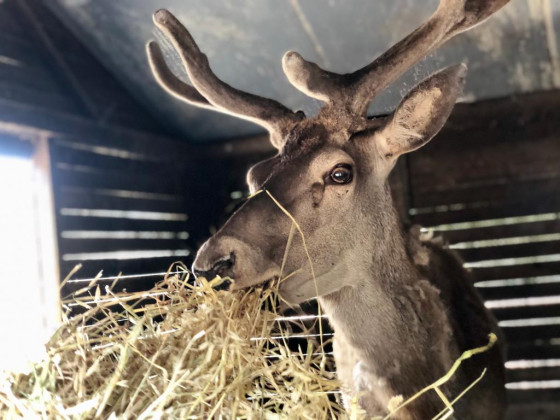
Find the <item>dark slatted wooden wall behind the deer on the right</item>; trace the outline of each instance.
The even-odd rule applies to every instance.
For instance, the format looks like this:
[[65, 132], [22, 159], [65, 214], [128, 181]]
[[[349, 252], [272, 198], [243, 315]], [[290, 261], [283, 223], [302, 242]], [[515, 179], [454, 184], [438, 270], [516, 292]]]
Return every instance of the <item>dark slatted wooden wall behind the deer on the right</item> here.
[[557, 415], [560, 92], [459, 105], [408, 168], [412, 222], [459, 252], [507, 337], [512, 413]]

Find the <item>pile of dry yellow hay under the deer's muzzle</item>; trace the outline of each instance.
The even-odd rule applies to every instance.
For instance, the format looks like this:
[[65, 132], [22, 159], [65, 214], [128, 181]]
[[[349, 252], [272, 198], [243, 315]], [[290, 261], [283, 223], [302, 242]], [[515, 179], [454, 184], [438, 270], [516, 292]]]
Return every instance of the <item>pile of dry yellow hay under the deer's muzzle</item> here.
[[91, 284], [47, 359], [0, 378], [0, 418], [344, 416], [321, 349], [278, 339], [274, 291], [216, 291], [217, 281], [168, 275], [131, 295]]

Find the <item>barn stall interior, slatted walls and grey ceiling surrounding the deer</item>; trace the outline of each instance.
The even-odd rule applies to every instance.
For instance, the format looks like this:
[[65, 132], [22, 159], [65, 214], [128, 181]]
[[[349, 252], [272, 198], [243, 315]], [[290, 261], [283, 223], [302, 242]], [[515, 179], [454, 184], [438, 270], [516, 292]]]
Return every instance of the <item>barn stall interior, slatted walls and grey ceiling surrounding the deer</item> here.
[[[18, 287], [8, 287], [6, 319], [13, 324], [25, 304], [41, 309], [36, 319], [24, 317], [30, 327], [56, 325], [57, 285], [77, 264], [64, 296], [100, 271], [107, 283], [122, 273], [118, 290], [134, 293], [150, 289], [173, 262], [190, 265], [246, 196], [247, 168], [273, 153], [255, 126], [190, 107], [156, 84], [144, 50], [150, 39], [167, 45], [152, 24], [155, 9], [177, 14], [222, 79], [313, 114], [317, 103], [281, 72], [286, 50], [347, 72], [436, 3], [0, 3], [0, 154], [31, 162], [40, 180], [29, 192], [35, 198], [9, 200], [24, 190], [11, 173], [2, 175], [7, 202], [31, 203], [12, 213], [5, 206], [3, 230], [13, 234], [2, 245], [2, 278], [18, 278], [4, 280]], [[514, 0], [417, 65], [370, 110], [387, 113], [436, 69], [469, 65], [463, 103], [434, 141], [401, 158], [392, 187], [401, 217], [445, 236], [500, 320], [511, 418], [560, 412], [559, 25], [554, 0]], [[169, 45], [165, 55], [183, 74]], [[34, 213], [11, 223], [26, 207]], [[29, 233], [13, 229], [34, 223], [39, 228]], [[22, 267], [29, 283], [19, 280]], [[26, 294], [27, 303], [15, 297], [35, 288], [40, 293]]]

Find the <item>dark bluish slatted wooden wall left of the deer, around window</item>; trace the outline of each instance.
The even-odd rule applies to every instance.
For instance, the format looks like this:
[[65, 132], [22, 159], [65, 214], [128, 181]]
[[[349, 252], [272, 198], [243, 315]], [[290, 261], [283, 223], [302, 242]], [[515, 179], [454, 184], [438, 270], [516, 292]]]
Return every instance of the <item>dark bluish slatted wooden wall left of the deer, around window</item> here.
[[227, 166], [167, 137], [41, 1], [0, 2], [0, 28], [0, 153], [47, 139], [61, 275], [81, 260], [79, 278], [184, 259], [226, 205], [200, 196], [228, 197]]

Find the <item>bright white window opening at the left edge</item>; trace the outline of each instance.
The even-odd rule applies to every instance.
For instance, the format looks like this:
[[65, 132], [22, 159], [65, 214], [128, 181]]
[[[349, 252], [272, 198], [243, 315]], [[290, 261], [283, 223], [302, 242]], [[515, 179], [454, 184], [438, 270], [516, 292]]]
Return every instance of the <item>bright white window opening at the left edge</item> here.
[[40, 357], [59, 318], [46, 150], [46, 141], [32, 157], [0, 147], [0, 370]]

